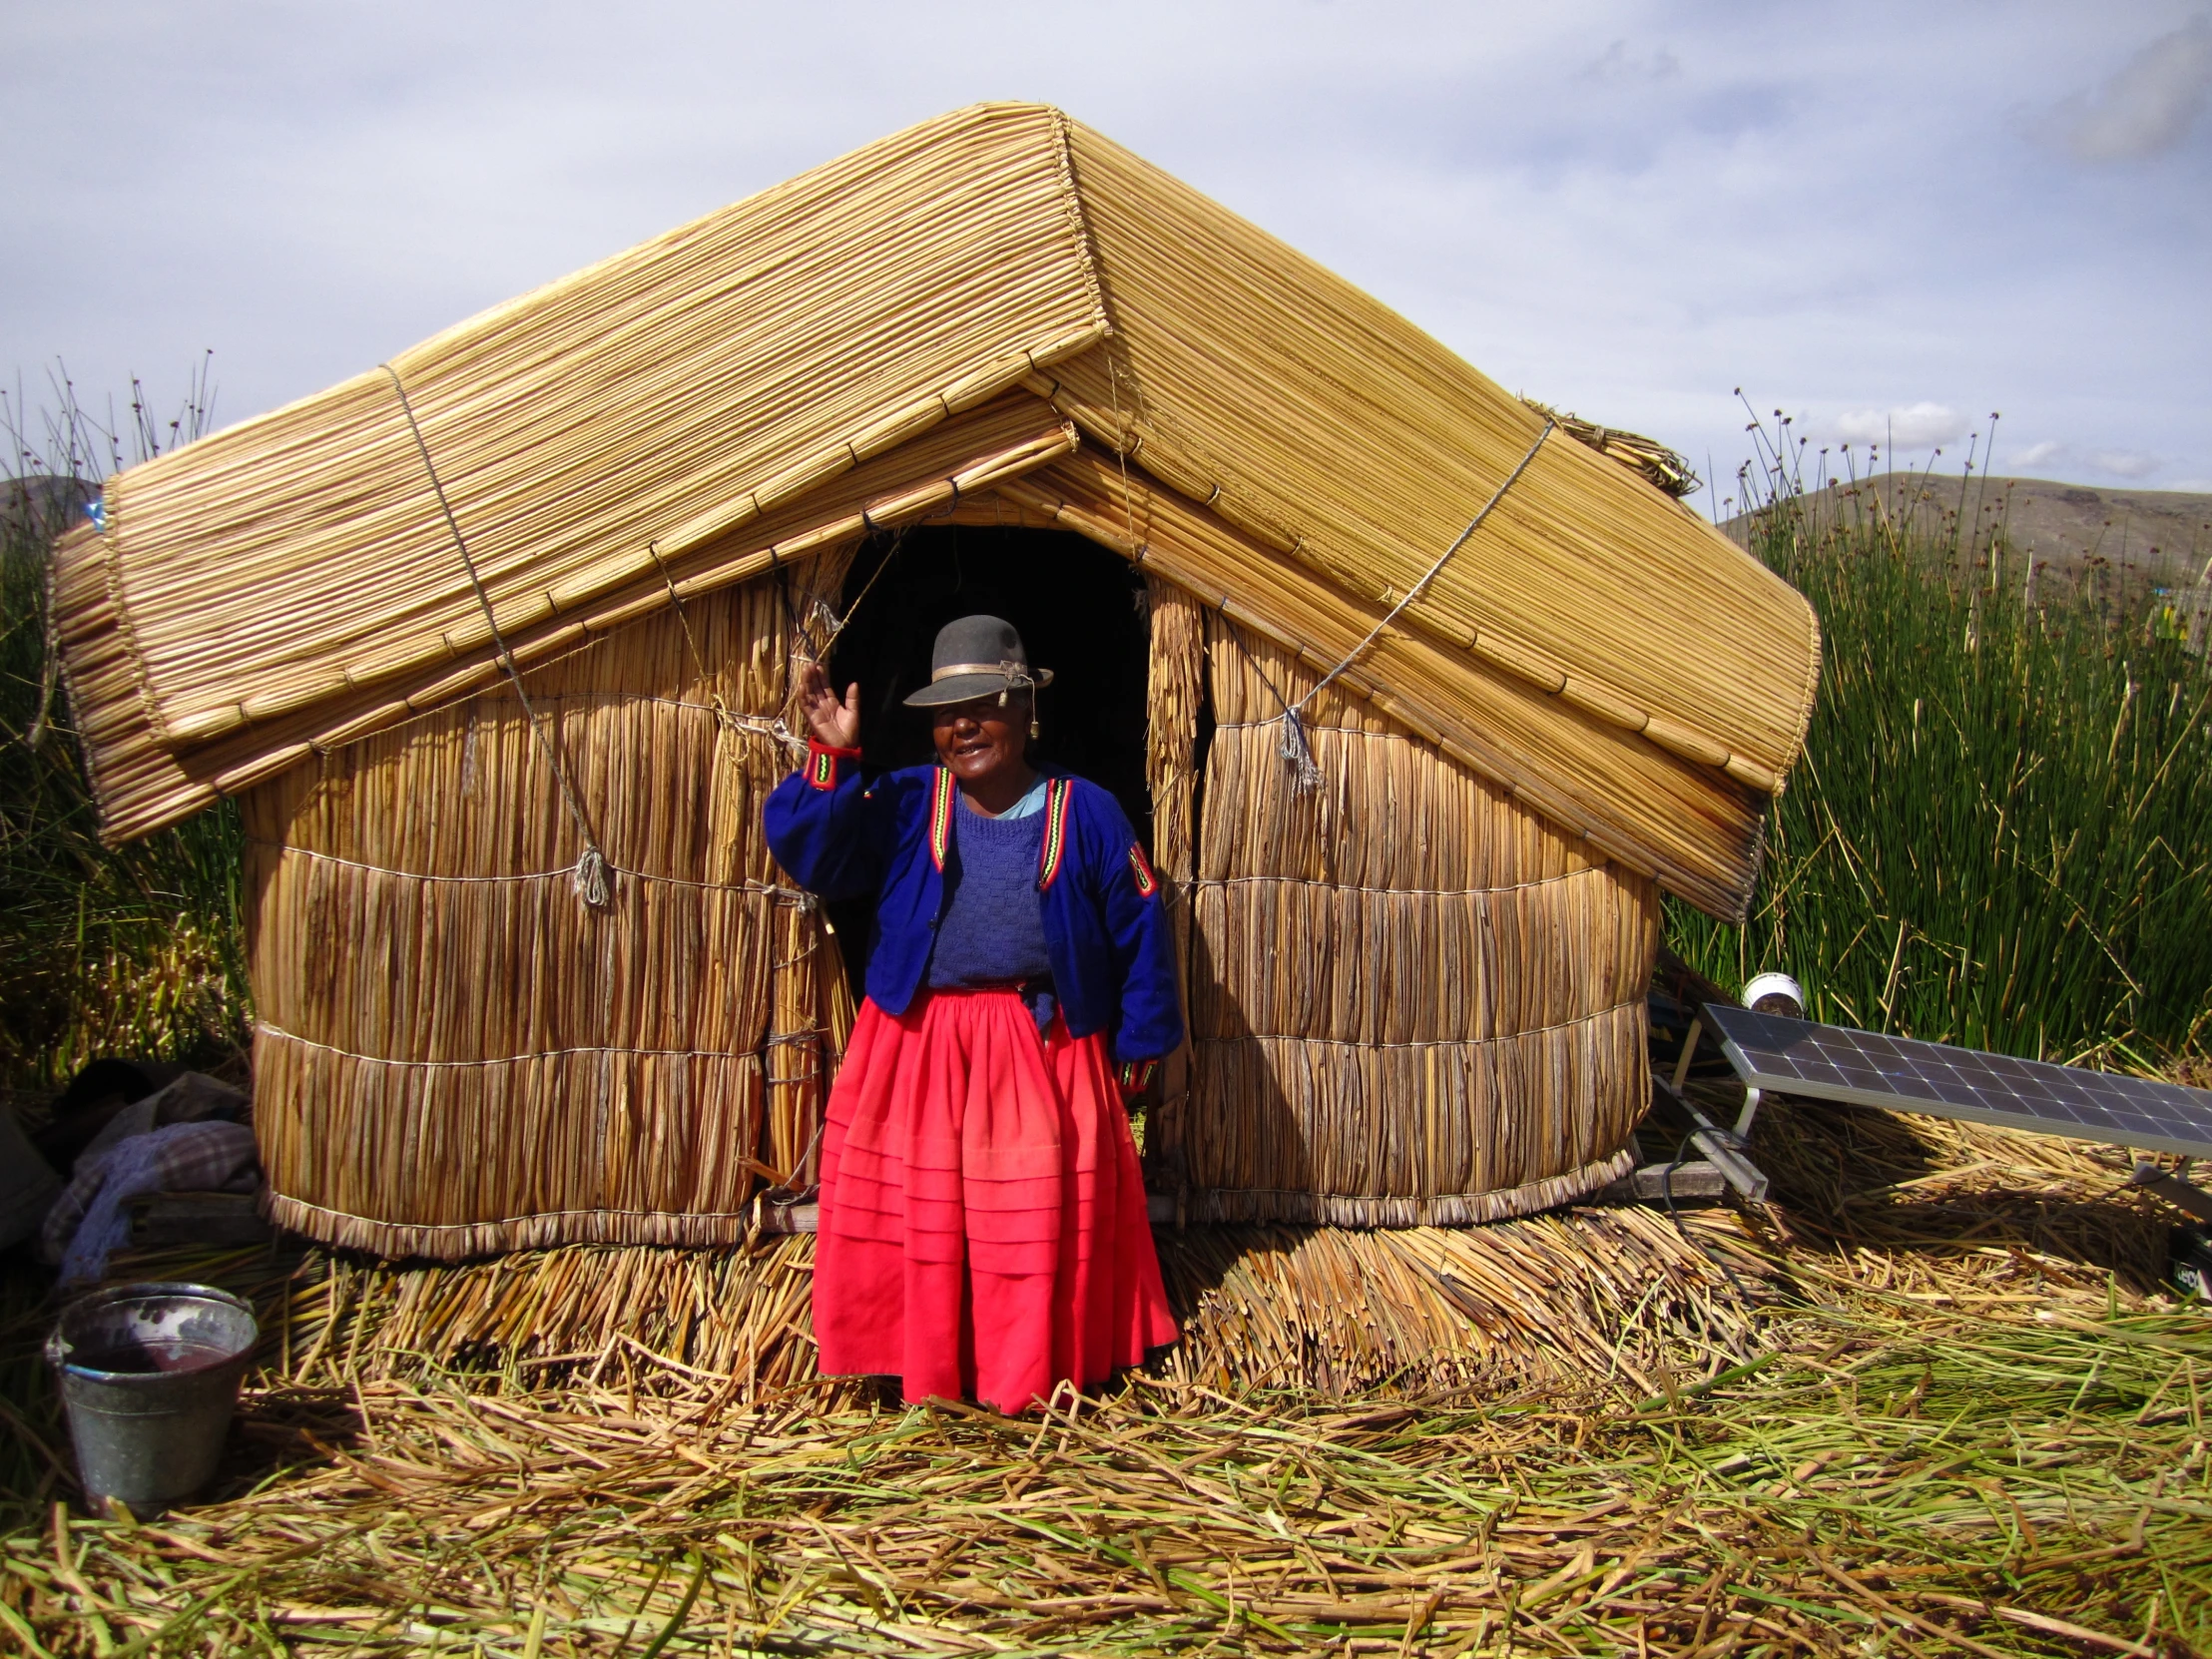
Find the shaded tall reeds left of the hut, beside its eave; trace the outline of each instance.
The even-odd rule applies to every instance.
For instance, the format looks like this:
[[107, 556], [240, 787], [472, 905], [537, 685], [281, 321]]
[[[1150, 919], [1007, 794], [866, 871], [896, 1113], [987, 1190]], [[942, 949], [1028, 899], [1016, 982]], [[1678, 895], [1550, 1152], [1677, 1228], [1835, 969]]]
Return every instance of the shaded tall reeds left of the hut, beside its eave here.
[[100, 420], [55, 378], [55, 407], [0, 394], [0, 1086], [44, 1086], [100, 1053], [208, 1060], [243, 1042], [239, 825], [226, 805], [106, 849], [46, 630], [53, 540], [100, 480], [190, 442], [206, 372], [173, 420], [133, 385]]

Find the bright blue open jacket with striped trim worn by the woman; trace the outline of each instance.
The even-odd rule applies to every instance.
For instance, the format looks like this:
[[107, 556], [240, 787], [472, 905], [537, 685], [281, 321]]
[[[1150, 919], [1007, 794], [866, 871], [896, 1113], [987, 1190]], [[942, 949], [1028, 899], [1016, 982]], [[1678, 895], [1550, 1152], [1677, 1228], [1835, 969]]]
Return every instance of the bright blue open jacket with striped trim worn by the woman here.
[[[1037, 885], [1053, 993], [1068, 1031], [1106, 1031], [1124, 1082], [1141, 1082], [1144, 1062], [1183, 1040], [1159, 880], [1106, 790], [1048, 776]], [[929, 947], [960, 880], [951, 814], [964, 810], [940, 765], [863, 774], [858, 750], [821, 743], [768, 796], [768, 847], [801, 887], [876, 900], [867, 995], [885, 1013], [905, 1013], [929, 973]]]

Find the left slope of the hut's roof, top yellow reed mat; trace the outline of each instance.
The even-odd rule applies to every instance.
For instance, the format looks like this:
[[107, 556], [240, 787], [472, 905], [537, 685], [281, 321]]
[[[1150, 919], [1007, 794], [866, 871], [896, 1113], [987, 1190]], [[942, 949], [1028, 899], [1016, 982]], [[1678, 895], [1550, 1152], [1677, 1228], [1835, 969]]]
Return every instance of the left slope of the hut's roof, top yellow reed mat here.
[[[653, 575], [650, 544], [703, 546], [1097, 338], [1057, 128], [964, 111], [396, 356], [500, 624]], [[279, 467], [281, 493], [243, 493]], [[108, 507], [177, 741], [484, 637], [383, 369], [135, 467]]]

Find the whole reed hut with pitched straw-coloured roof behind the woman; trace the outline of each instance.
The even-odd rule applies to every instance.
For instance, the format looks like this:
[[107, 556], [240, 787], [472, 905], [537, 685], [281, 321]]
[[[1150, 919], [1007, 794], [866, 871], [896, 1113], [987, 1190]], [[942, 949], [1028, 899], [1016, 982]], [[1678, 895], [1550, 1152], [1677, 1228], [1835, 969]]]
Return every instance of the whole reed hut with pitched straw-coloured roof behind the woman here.
[[911, 622], [880, 595], [947, 546], [1104, 664], [1044, 712], [1073, 765], [1119, 743], [1177, 902], [1183, 1221], [1626, 1168], [1659, 896], [1750, 902], [1812, 611], [1292, 248], [984, 104], [135, 467], [60, 549], [108, 838], [243, 814], [283, 1225], [708, 1245], [803, 1192], [849, 929], [759, 805], [794, 655]]

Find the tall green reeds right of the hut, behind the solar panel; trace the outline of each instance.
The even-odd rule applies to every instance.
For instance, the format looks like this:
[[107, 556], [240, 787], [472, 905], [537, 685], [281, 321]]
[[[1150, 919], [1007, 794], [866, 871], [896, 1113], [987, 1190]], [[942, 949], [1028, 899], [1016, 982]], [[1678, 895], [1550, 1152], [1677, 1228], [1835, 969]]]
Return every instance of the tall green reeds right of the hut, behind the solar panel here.
[[[2044, 580], [2002, 513], [1900, 522], [1807, 489], [1787, 429], [1741, 478], [1752, 551], [1820, 613], [1805, 759], [1756, 914], [1674, 907], [1721, 982], [1794, 973], [1820, 1020], [2055, 1060], [2212, 1037], [2212, 677], [2148, 606]], [[1893, 493], [1891, 493], [1893, 498]]]

